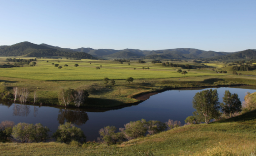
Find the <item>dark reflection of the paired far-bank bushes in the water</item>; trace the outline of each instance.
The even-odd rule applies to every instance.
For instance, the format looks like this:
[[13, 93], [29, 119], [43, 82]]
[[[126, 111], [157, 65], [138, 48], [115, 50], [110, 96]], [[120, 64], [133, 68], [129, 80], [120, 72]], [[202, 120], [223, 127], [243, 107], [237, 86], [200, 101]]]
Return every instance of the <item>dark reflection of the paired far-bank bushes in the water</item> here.
[[59, 109], [58, 119], [59, 124], [64, 124], [65, 122], [71, 122], [76, 125], [85, 124], [89, 120], [88, 115], [85, 111], [79, 108], [75, 110]]

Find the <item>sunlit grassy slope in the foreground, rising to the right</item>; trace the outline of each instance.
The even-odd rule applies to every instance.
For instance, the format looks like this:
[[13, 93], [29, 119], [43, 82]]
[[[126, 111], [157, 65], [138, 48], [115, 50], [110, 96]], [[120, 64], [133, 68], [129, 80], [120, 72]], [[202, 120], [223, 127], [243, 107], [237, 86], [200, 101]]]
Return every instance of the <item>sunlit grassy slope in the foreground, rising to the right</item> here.
[[[100, 143], [81, 147], [64, 143], [0, 143], [0, 151], [3, 156], [134, 156], [149, 151], [155, 156], [250, 156], [256, 150], [255, 113], [256, 110], [208, 125], [183, 126], [111, 147]], [[219, 150], [233, 155], [210, 154]]]

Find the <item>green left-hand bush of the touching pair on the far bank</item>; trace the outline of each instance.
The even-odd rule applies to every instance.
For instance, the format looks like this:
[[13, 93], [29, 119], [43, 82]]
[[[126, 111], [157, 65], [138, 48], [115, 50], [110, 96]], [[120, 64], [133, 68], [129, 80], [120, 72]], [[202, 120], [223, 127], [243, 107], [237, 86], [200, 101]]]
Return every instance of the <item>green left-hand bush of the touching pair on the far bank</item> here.
[[74, 93], [73, 89], [68, 88], [66, 91], [62, 89], [59, 92], [59, 104], [68, 106], [72, 102], [72, 95]]

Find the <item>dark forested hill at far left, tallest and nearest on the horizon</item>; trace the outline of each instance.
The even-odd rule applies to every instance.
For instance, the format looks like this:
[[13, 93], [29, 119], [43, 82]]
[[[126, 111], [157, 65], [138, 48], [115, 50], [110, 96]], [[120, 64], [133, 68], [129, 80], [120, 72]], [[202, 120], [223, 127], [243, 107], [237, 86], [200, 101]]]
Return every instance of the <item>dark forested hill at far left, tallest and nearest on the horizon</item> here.
[[[51, 46], [51, 45], [49, 45]], [[57, 47], [55, 47], [57, 48]], [[58, 48], [63, 49], [63, 48]], [[53, 49], [45, 45], [36, 45], [30, 42], [21, 42], [15, 45], [0, 48], [2, 56], [28, 56], [28, 57], [66, 57], [66, 58], [88, 58], [94, 57], [85, 52], [67, 52]]]

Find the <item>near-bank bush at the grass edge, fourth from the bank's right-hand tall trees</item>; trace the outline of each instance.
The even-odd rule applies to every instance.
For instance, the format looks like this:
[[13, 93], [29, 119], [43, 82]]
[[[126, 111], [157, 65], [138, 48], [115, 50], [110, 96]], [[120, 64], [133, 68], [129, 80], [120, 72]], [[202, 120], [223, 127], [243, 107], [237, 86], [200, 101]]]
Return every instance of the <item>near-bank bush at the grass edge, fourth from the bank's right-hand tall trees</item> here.
[[100, 139], [108, 144], [116, 144], [118, 140], [125, 138], [123, 133], [115, 133], [117, 128], [115, 126], [107, 126], [99, 130]]

